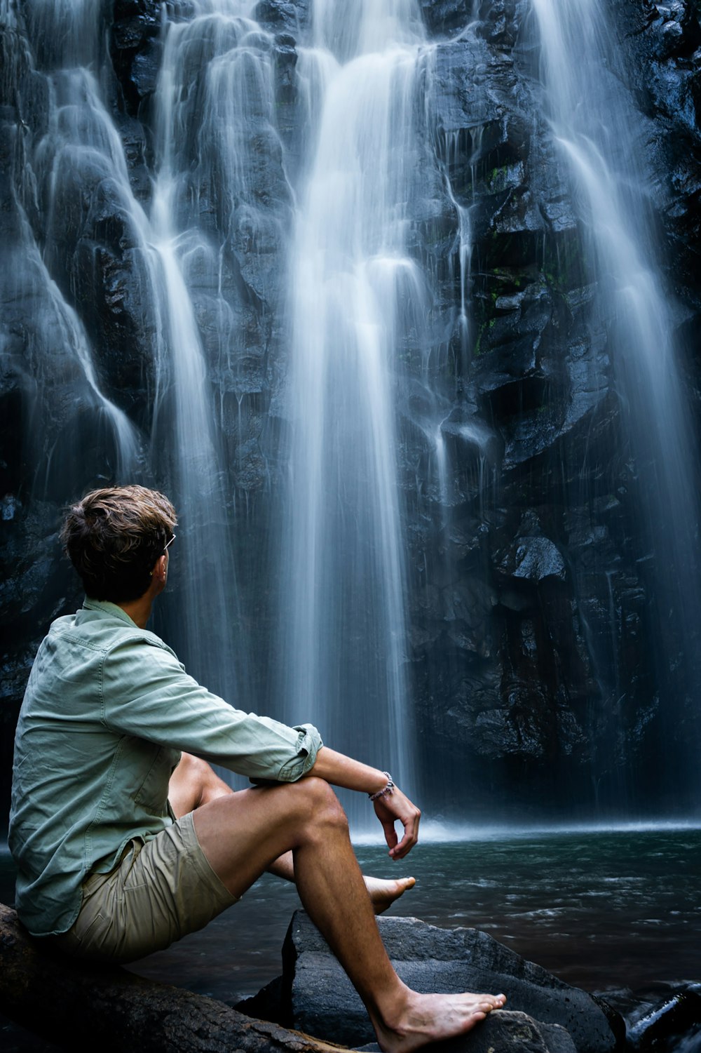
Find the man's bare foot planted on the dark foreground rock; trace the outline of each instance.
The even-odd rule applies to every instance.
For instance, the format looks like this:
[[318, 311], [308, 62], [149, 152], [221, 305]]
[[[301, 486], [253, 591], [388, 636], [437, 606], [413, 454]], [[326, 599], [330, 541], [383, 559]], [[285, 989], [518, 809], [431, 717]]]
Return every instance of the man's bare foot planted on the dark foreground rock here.
[[428, 1042], [463, 1035], [506, 1002], [503, 994], [407, 993], [406, 1006], [390, 1026], [374, 1021], [384, 1053], [412, 1053]]

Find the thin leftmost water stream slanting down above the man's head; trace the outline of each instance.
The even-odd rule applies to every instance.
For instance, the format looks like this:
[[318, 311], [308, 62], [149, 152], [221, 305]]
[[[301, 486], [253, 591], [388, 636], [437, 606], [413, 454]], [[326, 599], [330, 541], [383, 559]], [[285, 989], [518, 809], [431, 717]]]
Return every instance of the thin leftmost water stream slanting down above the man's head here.
[[[38, 363], [37, 374], [44, 398], [51, 402], [49, 393], [55, 386], [59, 386], [60, 378], [67, 376], [67, 371], [77, 366], [75, 383], [79, 388], [79, 378], [82, 377], [82, 382], [86, 385], [87, 401], [97, 411], [92, 434], [85, 438], [95, 444], [104, 443], [107, 449], [114, 446], [115, 475], [126, 479], [138, 471], [140, 437], [126, 414], [103, 393], [84, 327], [52, 278], [46, 264], [46, 258], [52, 254], [52, 211], [67, 171], [89, 167], [95, 173], [103, 168], [104, 176], [107, 177], [112, 175], [113, 165], [119, 165], [121, 161], [120, 172], [123, 172], [123, 178], [128, 182], [119, 138], [114, 127], [102, 121], [98, 107], [93, 104], [95, 81], [80, 64], [89, 63], [96, 57], [99, 11], [96, 12], [95, 6], [89, 3], [47, 5], [35, 0], [34, 3], [26, 4], [24, 16], [33, 33], [33, 42], [51, 71], [46, 74], [47, 127], [35, 158], [39, 185], [28, 163], [25, 163], [25, 170], [19, 179], [22, 200], [15, 196], [19, 216], [19, 247], [13, 262], [3, 269], [3, 284], [6, 290], [15, 290], [14, 294], [7, 296], [9, 302], [16, 298], [28, 298], [39, 304], [33, 318], [36, 345], [56, 345], [66, 356], [62, 371], [56, 365], [48, 369], [48, 363]], [[2, 18], [11, 28], [17, 27], [15, 14], [9, 6], [3, 5]], [[64, 68], [54, 68], [57, 64], [56, 56], [60, 56]], [[36, 210], [37, 200], [42, 193], [45, 194], [48, 205], [49, 232], [47, 247], [43, 252], [36, 242], [26, 212], [27, 208]], [[78, 397], [77, 392], [76, 408], [82, 404], [83, 399]], [[72, 436], [76, 449], [71, 457], [67, 457], [67, 450], [72, 437], [65, 430], [57, 436], [54, 444], [54, 448], [61, 446], [60, 456], [54, 456], [55, 449], [43, 453], [37, 451], [40, 469], [37, 478], [38, 493], [56, 489], [57, 473], [62, 473], [66, 461], [80, 458], [79, 444], [85, 441], [84, 438], [78, 438], [80, 426], [76, 422], [75, 434]]]

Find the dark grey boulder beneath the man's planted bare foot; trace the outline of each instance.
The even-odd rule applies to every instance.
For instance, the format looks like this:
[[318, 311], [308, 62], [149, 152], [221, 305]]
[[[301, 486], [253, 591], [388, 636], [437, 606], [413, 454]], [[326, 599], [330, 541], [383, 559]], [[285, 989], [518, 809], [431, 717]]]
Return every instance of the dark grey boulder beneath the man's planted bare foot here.
[[[494, 1014], [475, 1030], [470, 1053], [481, 1049], [482, 1042], [486, 1042], [485, 1050], [548, 1049], [550, 1053], [572, 1048], [578, 1053], [613, 1053], [622, 1045], [623, 1024], [617, 1014], [610, 1011], [607, 1017], [601, 1004], [586, 992], [524, 960], [486, 933], [439, 929], [416, 918], [378, 920], [398, 974], [416, 991], [503, 991], [508, 996], [508, 1011]], [[303, 911], [293, 917], [283, 969], [281, 981], [244, 1004], [246, 1011], [311, 1034], [333, 1036], [347, 1046], [374, 1041], [360, 998]], [[556, 1031], [549, 1030], [553, 1026]], [[527, 1041], [524, 1028], [532, 1036]]]

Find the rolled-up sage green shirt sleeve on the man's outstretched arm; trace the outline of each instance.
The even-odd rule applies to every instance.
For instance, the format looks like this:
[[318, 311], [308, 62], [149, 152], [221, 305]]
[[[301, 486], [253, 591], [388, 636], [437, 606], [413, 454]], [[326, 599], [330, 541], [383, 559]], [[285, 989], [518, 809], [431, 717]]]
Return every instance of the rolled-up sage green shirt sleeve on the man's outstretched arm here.
[[102, 720], [107, 729], [193, 753], [254, 781], [295, 782], [317, 759], [313, 724], [288, 727], [245, 713], [189, 676], [157, 637], [122, 639], [102, 663]]

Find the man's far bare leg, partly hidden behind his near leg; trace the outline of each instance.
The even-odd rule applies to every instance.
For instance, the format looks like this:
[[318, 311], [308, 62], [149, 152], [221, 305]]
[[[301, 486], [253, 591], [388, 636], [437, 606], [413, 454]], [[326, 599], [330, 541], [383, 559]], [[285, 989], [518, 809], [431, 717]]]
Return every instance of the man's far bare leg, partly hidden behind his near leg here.
[[[199, 757], [194, 757], [189, 753], [183, 753], [180, 763], [171, 776], [168, 786], [168, 800], [177, 818], [188, 812], [194, 812], [196, 808], [207, 804], [218, 797], [225, 797], [233, 793], [232, 788], [215, 774], [206, 760], [200, 760]], [[286, 881], [294, 881], [295, 863], [292, 852], [285, 852], [266, 870]], [[395, 880], [363, 877], [363, 880], [376, 914], [386, 911], [395, 899], [398, 899], [407, 889], [416, 885], [416, 879], [413, 877], [399, 877]]]

